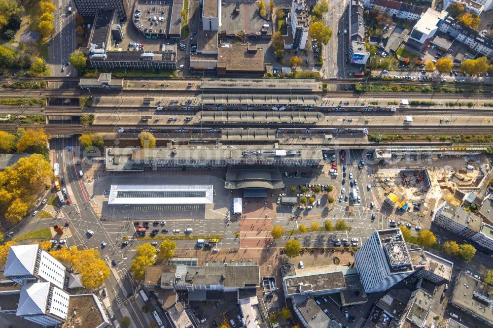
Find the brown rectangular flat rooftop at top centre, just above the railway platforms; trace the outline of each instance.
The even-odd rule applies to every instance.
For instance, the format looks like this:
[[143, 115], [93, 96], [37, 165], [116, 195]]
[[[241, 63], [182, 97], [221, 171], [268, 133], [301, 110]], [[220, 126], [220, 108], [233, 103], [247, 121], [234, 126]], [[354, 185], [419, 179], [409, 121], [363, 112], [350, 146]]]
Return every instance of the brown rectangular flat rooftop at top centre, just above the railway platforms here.
[[263, 73], [265, 71], [263, 49], [256, 48], [255, 51], [247, 51], [247, 47], [252, 46], [232, 44], [230, 47], [220, 47], [217, 68], [225, 68], [228, 73]]

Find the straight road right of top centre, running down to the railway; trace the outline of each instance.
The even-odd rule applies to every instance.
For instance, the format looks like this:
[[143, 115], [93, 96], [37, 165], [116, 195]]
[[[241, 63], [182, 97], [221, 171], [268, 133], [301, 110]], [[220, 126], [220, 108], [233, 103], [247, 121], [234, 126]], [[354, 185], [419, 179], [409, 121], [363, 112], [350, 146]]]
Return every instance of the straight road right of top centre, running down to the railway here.
[[[326, 58], [324, 63], [324, 78], [346, 78], [346, 57], [344, 52], [348, 49], [348, 34], [344, 34], [347, 29], [348, 0], [328, 1], [329, 11], [326, 13], [325, 22], [332, 30], [332, 38], [324, 47]], [[339, 33], [340, 32], [340, 33]]]

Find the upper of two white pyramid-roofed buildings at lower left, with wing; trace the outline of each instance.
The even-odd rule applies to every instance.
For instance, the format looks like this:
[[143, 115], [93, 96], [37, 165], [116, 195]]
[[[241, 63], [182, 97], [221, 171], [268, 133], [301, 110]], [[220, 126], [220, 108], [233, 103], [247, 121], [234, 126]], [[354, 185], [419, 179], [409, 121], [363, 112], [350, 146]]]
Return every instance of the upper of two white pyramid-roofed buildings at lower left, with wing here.
[[3, 275], [24, 285], [27, 282], [47, 281], [63, 289], [65, 266], [39, 247], [39, 245], [11, 246]]

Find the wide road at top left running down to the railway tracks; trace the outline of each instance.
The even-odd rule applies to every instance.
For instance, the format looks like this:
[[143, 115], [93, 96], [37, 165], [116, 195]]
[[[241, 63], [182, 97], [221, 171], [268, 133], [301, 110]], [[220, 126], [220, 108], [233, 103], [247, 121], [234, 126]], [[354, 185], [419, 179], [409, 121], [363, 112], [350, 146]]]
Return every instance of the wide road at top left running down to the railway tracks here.
[[[55, 35], [49, 42], [48, 60], [51, 75], [69, 76], [74, 75], [75, 71], [72, 66], [65, 66], [67, 58], [76, 49], [75, 44], [75, 6], [71, 0], [57, 0], [54, 2], [57, 10], [53, 13], [55, 21]], [[69, 14], [69, 7], [72, 7], [72, 13]], [[62, 67], [64, 71], [62, 71]]]

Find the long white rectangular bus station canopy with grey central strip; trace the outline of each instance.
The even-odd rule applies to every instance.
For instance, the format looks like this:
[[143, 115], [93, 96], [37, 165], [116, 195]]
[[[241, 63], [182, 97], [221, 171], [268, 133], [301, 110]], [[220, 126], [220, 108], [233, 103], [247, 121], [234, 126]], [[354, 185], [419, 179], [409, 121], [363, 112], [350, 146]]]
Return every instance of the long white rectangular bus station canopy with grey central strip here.
[[108, 204], [211, 204], [212, 197], [212, 185], [111, 185]]

